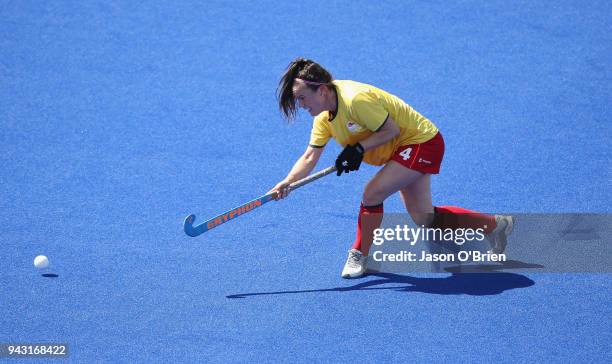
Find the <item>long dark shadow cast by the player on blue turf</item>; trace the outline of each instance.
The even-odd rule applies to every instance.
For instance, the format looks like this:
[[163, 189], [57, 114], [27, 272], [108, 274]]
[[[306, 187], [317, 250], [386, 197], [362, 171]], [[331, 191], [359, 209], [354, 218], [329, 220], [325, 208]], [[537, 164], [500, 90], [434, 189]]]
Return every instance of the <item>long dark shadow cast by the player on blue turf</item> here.
[[281, 294], [350, 292], [368, 290], [393, 290], [397, 292], [421, 292], [442, 295], [471, 296], [496, 295], [504, 291], [526, 288], [535, 284], [531, 279], [515, 273], [453, 273], [442, 278], [420, 278], [393, 273], [372, 273], [368, 277], [378, 277], [348, 287], [309, 289], [299, 291], [276, 291], [239, 293], [227, 298], [246, 298], [250, 296], [269, 296]]

